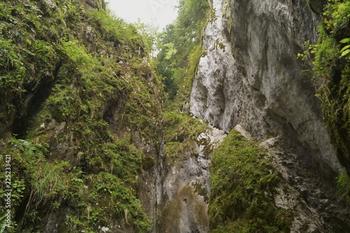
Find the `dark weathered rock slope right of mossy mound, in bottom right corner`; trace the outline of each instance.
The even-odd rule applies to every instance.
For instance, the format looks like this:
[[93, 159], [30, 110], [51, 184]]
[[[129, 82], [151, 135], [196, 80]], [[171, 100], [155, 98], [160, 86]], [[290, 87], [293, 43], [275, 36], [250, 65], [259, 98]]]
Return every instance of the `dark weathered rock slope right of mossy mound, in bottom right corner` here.
[[347, 232], [350, 213], [334, 193], [334, 181], [310, 169], [307, 161], [283, 148], [276, 137], [260, 143], [279, 172], [282, 182], [276, 188], [274, 202], [295, 211], [290, 232]]

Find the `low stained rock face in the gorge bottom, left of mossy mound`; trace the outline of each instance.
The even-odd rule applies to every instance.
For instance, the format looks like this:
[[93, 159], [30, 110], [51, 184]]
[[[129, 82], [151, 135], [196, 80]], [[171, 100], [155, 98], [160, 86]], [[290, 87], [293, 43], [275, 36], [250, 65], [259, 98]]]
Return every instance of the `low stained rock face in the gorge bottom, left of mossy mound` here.
[[186, 139], [178, 155], [162, 157], [159, 168], [156, 232], [209, 232], [210, 151], [225, 133], [209, 129], [196, 140]]

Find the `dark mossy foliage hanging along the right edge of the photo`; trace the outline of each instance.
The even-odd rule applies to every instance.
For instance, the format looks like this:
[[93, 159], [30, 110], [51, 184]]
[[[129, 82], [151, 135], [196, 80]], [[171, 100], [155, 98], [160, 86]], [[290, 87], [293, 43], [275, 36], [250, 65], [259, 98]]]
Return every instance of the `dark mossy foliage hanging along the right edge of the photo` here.
[[[328, 1], [316, 45], [301, 57], [312, 60], [313, 80], [322, 101], [323, 118], [339, 162], [350, 173], [350, 1]], [[312, 55], [311, 55], [312, 54]]]

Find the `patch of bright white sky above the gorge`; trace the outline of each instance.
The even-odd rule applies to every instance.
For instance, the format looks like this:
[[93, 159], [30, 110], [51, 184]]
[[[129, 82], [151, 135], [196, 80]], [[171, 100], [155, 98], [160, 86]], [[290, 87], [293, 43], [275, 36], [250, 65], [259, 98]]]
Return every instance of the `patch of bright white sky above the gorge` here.
[[160, 29], [172, 23], [177, 16], [179, 0], [106, 0], [109, 8], [127, 22], [141, 22], [151, 24], [155, 22]]

